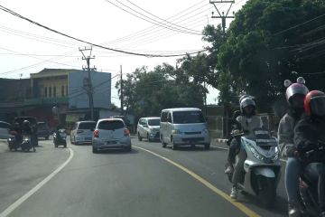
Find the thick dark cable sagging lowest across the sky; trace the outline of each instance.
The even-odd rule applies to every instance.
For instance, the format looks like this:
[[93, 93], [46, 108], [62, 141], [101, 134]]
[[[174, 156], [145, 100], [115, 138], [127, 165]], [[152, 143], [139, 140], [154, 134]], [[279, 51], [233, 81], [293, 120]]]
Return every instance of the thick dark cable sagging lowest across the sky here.
[[[66, 34], [66, 33], [60, 33], [59, 31], [57, 30], [54, 30], [54, 29], [51, 29], [50, 27], [48, 26], [45, 26], [45, 25], [42, 25], [42, 24], [39, 24], [35, 21], [32, 21], [31, 19], [27, 18], [27, 17], [24, 17], [23, 15], [21, 14], [17, 14], [15, 13], [14, 11], [6, 8], [5, 6], [3, 5], [0, 5], [0, 9], [5, 11], [6, 13], [9, 13], [9, 14], [13, 14], [14, 16], [17, 16], [25, 21], [28, 21], [32, 24], [35, 24], [35, 25], [38, 25], [48, 31], [51, 31], [53, 33], [58, 33], [60, 35], [63, 35], [65, 37], [68, 37], [70, 39], [73, 39], [73, 40], [76, 40], [76, 41], [79, 41], [79, 42], [84, 42], [84, 43], [88, 43], [89, 45], [92, 45], [92, 46], [95, 46], [95, 47], [99, 47], [99, 48], [102, 48], [102, 49], [106, 49], [106, 50], [109, 50], [109, 51], [114, 51], [114, 52], [123, 52], [123, 53], [127, 53], [127, 54], [133, 54], [133, 55], [137, 55], [137, 56], [145, 56], [145, 57], [177, 57], [177, 56], [184, 56], [186, 55], [186, 53], [184, 54], [178, 54], [178, 55], [163, 55], [163, 54], [151, 54], [151, 53], [137, 53], [137, 52], [125, 52], [123, 50], [119, 50], [119, 49], [114, 49], [114, 48], [109, 48], [109, 47], [105, 47], [105, 46], [102, 46], [102, 45], [99, 45], [99, 44], [96, 44], [96, 43], [93, 43], [93, 42], [87, 42], [87, 41], [84, 41], [84, 40], [81, 40], [79, 38], [76, 38], [76, 37], [73, 37], [73, 36], [70, 36], [69, 34]], [[202, 50], [203, 51], [206, 51], [206, 50]], [[195, 52], [195, 53], [198, 53], [198, 52]], [[188, 53], [188, 54], [195, 54], [195, 53]]]

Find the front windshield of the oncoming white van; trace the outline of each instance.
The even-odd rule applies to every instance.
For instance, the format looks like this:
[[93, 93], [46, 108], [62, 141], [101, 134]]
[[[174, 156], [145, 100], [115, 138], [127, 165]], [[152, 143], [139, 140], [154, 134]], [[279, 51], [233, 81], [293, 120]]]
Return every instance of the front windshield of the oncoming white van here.
[[174, 124], [204, 123], [204, 117], [200, 111], [174, 111], [172, 112]]

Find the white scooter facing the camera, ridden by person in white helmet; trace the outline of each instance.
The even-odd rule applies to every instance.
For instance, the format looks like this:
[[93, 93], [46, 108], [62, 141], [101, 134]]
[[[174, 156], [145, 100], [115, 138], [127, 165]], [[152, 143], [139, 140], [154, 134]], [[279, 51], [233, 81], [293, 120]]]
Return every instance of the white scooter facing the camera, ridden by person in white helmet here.
[[[256, 128], [249, 134], [237, 130], [232, 136], [241, 142], [233, 165], [234, 171], [240, 159], [243, 161], [246, 158], [238, 189], [242, 193], [256, 195], [265, 207], [271, 206], [281, 176], [280, 149], [275, 137], [263, 128]], [[234, 172], [228, 174], [231, 183], [234, 182], [234, 176]]]

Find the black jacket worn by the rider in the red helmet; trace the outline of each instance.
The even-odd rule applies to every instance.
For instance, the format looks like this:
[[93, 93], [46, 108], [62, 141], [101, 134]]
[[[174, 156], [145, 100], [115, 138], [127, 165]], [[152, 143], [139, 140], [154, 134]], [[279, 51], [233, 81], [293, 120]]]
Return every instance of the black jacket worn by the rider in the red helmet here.
[[[294, 146], [302, 159], [307, 161], [320, 161], [325, 158], [323, 152], [317, 152], [320, 141], [325, 141], [325, 123], [303, 117], [294, 127]], [[311, 155], [306, 155], [307, 152]]]

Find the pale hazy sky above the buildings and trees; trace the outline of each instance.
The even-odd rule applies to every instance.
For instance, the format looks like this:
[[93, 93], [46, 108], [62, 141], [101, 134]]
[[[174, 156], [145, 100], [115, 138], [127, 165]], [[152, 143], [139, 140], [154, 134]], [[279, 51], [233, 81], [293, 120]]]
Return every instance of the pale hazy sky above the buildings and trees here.
[[[246, 0], [236, 0], [230, 13]], [[0, 5], [35, 22], [84, 41], [127, 52], [182, 54], [199, 51], [206, 45], [200, 32], [206, 24], [219, 24], [212, 19], [216, 12], [209, 0], [0, 0]], [[218, 4], [227, 12], [228, 4]], [[162, 18], [162, 19], [160, 19]], [[228, 21], [230, 22], [230, 20]], [[29, 78], [30, 73], [44, 68], [81, 69], [79, 47], [87, 43], [51, 33], [0, 10], [0, 77]], [[141, 66], [149, 70], [176, 57], [148, 58], [111, 52], [93, 47], [91, 65], [98, 71], [130, 73]], [[119, 105], [112, 80], [112, 102]], [[209, 88], [208, 103], [215, 103], [218, 90]]]

